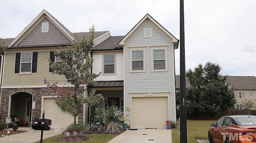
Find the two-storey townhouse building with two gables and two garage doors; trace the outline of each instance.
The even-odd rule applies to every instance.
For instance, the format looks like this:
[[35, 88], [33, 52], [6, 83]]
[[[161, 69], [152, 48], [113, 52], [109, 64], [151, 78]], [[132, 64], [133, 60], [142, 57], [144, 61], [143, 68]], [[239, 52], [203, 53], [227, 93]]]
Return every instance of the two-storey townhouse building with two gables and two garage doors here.
[[[43, 10], [15, 39], [0, 39], [10, 46], [0, 55], [2, 121], [10, 116], [32, 121], [45, 111], [52, 128], [65, 128], [73, 122], [72, 115], [55, 104], [56, 95], [43, 80], [64, 85], [64, 76], [51, 73], [48, 58], [58, 61], [53, 49], [70, 46], [83, 34], [89, 36], [90, 32], [71, 33]], [[176, 120], [174, 49], [178, 42], [148, 14], [126, 36], [95, 32], [92, 72], [102, 74], [88, 88], [104, 96], [98, 107], [120, 107], [132, 128], [165, 128], [166, 119]], [[78, 118], [88, 121], [86, 105]]]

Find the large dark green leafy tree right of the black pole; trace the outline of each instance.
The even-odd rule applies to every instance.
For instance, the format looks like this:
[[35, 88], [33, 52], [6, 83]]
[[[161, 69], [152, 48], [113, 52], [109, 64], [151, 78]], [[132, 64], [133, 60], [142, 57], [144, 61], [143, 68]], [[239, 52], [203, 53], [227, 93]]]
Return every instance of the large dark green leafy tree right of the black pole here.
[[214, 116], [234, 107], [236, 103], [233, 89], [220, 74], [220, 65], [207, 62], [186, 72], [190, 87], [187, 89], [188, 115]]

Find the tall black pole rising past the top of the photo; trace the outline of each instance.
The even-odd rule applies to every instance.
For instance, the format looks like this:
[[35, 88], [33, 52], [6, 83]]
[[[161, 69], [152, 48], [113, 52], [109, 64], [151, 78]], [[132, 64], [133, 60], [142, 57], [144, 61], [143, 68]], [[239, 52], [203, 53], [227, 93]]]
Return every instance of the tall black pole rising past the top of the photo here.
[[184, 0], [180, 0], [180, 143], [187, 143]]

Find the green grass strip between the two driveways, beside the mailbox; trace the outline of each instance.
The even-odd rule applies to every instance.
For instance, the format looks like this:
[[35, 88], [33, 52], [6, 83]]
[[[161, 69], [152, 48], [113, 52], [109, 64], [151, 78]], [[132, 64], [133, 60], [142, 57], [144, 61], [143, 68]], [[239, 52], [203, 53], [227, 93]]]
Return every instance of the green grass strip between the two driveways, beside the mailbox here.
[[[86, 137], [90, 137], [90, 140], [87, 141], [76, 141], [76, 142], [68, 142], [68, 143], [106, 143], [113, 139], [118, 135], [113, 134], [85, 134]], [[63, 137], [63, 135], [57, 135], [54, 137], [50, 137], [48, 139], [44, 139], [43, 143], [64, 143], [62, 141], [58, 141], [59, 138]], [[36, 142], [40, 143], [40, 141]]]

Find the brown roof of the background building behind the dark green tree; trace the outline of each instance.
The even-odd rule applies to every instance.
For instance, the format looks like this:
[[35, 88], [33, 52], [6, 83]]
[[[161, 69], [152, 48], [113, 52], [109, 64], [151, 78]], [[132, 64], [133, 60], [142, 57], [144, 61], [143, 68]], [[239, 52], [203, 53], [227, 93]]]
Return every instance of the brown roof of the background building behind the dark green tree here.
[[[255, 90], [255, 76], [227, 76], [226, 80], [233, 89]], [[186, 86], [189, 85], [188, 77], [186, 77]], [[180, 75], [175, 75], [175, 87], [180, 89]]]

